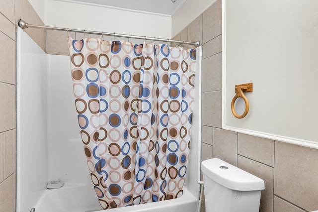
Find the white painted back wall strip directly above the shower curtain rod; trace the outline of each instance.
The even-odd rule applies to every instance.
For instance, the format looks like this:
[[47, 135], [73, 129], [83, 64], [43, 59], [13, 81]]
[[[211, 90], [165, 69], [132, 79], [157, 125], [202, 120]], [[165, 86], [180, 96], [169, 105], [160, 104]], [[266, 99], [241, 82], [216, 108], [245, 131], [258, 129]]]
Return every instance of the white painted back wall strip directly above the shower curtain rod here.
[[45, 24], [171, 38], [171, 17], [56, 0], [45, 0]]

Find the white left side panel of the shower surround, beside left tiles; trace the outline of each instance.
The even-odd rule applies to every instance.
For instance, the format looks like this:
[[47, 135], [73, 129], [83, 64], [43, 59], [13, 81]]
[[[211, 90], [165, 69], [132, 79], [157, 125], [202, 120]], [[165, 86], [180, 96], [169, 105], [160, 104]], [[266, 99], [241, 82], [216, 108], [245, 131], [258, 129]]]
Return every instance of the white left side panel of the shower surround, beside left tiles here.
[[23, 30], [17, 38], [17, 211], [26, 212], [47, 182], [47, 56]]

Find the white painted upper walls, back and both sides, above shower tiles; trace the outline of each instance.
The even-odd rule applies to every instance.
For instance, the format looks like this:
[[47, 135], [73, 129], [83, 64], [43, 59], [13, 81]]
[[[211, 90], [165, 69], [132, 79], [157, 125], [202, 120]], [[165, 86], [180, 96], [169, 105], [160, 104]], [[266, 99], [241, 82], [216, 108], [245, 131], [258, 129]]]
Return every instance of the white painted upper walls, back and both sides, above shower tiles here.
[[42, 21], [49, 26], [169, 39], [215, 1], [187, 0], [172, 17], [165, 17], [56, 0], [29, 0]]

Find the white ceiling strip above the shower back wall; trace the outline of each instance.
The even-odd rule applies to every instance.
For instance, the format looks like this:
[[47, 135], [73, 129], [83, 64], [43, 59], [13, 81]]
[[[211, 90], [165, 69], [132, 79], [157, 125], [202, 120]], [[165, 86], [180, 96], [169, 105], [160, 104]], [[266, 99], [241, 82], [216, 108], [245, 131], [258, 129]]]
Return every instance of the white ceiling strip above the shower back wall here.
[[[172, 16], [186, 0], [60, 0]], [[173, 2], [174, 1], [174, 2]]]

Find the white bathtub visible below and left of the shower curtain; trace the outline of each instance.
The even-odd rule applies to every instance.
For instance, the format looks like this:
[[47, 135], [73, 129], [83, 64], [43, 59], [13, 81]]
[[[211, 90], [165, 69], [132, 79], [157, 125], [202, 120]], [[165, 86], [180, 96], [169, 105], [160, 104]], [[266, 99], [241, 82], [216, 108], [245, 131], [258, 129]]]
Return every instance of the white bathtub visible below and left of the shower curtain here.
[[[108, 209], [107, 212], [195, 212], [197, 202], [197, 197], [185, 188], [178, 199]], [[93, 187], [80, 184], [44, 191], [34, 209], [34, 212], [105, 212], [99, 206]]]

